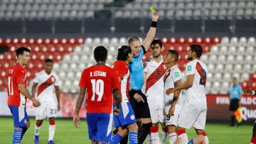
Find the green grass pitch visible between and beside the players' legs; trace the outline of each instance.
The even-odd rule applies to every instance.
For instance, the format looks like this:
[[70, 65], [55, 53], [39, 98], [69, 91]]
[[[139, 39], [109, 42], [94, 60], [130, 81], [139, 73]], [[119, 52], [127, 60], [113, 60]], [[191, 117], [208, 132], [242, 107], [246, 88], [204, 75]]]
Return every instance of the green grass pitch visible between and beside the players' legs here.
[[[21, 143], [33, 144], [33, 128], [35, 119], [31, 118], [31, 127], [24, 135]], [[193, 129], [188, 130], [188, 137], [196, 135]], [[252, 125], [244, 125], [240, 128], [229, 127], [228, 124], [206, 124], [206, 133], [210, 144], [246, 144], [250, 143], [252, 135]], [[13, 121], [12, 118], [0, 117], [0, 144], [12, 143]], [[40, 131], [40, 143], [47, 143], [48, 140], [48, 121], [43, 121]], [[85, 120], [80, 121], [79, 128], [73, 126], [71, 119], [57, 119], [55, 139], [56, 144], [90, 144], [88, 140], [87, 124]], [[166, 141], [166, 143], [169, 143]]]

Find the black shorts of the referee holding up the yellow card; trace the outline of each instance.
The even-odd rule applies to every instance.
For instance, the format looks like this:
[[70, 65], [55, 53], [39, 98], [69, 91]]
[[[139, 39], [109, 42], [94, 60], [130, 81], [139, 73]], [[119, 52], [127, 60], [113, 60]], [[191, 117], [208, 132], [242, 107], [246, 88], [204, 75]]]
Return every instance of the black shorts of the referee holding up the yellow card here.
[[143, 101], [137, 102], [134, 99], [134, 96], [129, 93], [129, 101], [132, 105], [132, 109], [134, 110], [135, 117], [136, 118], [150, 118], [150, 112], [149, 112], [149, 104], [147, 103], [146, 96], [145, 94], [142, 93], [142, 91], [136, 91], [137, 94], [140, 94], [142, 98], [144, 99]]

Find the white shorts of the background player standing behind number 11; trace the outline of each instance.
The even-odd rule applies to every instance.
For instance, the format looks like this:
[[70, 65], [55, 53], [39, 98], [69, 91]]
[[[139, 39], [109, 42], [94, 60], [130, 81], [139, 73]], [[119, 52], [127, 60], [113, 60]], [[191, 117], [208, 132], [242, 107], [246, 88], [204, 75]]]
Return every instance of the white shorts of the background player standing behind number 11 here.
[[36, 120], [44, 118], [57, 117], [57, 103], [55, 101], [41, 102], [41, 105], [36, 107]]

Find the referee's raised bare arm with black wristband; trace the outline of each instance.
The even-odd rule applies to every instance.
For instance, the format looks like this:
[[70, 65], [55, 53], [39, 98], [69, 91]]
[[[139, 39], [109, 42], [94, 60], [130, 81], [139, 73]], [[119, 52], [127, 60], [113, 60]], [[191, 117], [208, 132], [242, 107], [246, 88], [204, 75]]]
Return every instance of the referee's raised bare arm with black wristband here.
[[159, 16], [156, 13], [156, 11], [151, 13], [151, 19], [152, 19], [151, 27], [149, 28], [149, 32], [146, 34], [146, 38], [145, 38], [145, 40], [144, 40], [144, 42], [142, 44], [146, 51], [149, 50], [151, 42], [155, 38], [155, 35], [156, 35], [156, 25], [157, 25], [158, 18], [159, 18]]

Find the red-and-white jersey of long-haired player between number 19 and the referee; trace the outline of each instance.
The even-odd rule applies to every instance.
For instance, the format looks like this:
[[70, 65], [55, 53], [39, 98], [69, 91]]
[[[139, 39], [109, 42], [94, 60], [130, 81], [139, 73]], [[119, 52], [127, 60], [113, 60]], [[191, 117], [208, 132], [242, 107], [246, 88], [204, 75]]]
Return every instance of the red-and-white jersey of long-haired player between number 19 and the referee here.
[[117, 60], [113, 64], [113, 70], [117, 72], [117, 77], [121, 78], [121, 83], [119, 86], [122, 102], [129, 102], [129, 67], [127, 62], [122, 60]]

